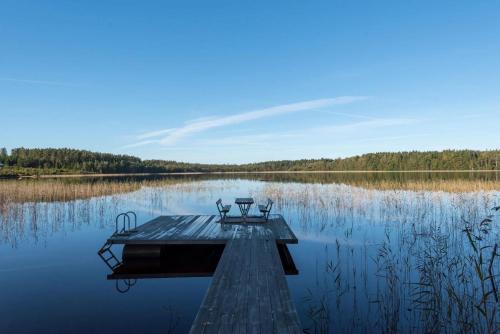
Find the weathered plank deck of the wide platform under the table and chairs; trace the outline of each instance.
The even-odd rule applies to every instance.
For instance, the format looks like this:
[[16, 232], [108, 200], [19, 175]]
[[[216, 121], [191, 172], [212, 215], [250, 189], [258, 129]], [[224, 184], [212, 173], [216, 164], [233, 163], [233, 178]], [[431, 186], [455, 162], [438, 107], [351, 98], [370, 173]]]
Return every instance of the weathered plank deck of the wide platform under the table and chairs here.
[[160, 216], [126, 236], [113, 235], [113, 244], [225, 244], [251, 231], [252, 236], [272, 236], [276, 242], [297, 243], [297, 237], [281, 215], [272, 215], [268, 222], [221, 224], [219, 216]]

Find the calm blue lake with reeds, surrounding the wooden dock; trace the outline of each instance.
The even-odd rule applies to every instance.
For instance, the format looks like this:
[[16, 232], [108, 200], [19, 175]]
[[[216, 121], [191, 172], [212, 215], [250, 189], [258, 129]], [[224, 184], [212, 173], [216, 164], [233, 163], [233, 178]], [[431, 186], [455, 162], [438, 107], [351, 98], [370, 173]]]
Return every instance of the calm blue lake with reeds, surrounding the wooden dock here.
[[306, 332], [498, 329], [498, 173], [280, 173], [0, 180], [0, 332], [187, 332], [211, 277], [127, 286], [97, 251], [120, 212], [216, 214], [222, 198], [237, 214], [246, 196], [299, 239], [287, 281]]

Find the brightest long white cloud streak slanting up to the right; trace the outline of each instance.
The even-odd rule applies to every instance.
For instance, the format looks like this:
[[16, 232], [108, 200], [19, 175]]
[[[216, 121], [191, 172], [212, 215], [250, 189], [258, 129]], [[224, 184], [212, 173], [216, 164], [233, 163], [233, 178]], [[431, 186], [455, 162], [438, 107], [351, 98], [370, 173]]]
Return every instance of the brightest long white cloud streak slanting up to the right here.
[[[162, 129], [162, 130], [146, 132], [137, 136], [137, 139], [155, 138], [163, 136], [157, 142], [161, 145], [168, 146], [175, 144], [178, 140], [184, 137], [213, 128], [240, 124], [248, 121], [253, 121], [266, 117], [273, 117], [292, 112], [315, 110], [335, 105], [345, 105], [358, 101], [363, 101], [366, 100], [367, 98], [368, 98], [367, 96], [341, 96], [335, 98], [283, 104], [279, 106], [248, 111], [230, 116], [202, 118], [202, 119], [188, 121], [184, 124], [184, 126], [179, 128], [173, 128], [173, 129], [170, 128], [170, 129]], [[137, 147], [142, 145], [148, 145], [151, 143], [153, 142], [147, 140], [147, 141], [140, 141], [131, 145], [133, 145], [133, 147]], [[129, 147], [131, 146], [129, 145]]]

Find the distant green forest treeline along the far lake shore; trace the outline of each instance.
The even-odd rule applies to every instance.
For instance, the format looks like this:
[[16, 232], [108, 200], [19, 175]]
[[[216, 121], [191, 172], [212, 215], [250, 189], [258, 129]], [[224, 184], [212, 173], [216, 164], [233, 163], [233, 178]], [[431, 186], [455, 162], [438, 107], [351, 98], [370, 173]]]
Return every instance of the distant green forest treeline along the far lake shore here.
[[446, 150], [442, 152], [370, 153], [342, 159], [267, 161], [252, 164], [194, 164], [168, 160], [141, 160], [129, 155], [68, 148], [0, 149], [3, 172], [33, 173], [173, 173], [254, 171], [409, 171], [500, 170], [500, 150]]

